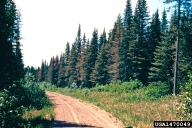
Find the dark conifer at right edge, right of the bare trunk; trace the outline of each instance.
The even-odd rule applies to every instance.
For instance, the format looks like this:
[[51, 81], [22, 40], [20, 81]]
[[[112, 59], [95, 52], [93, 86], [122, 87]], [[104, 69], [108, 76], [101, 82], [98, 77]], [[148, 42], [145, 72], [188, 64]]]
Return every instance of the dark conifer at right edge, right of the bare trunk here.
[[192, 15], [190, 12], [185, 12], [181, 18], [180, 41], [178, 84], [187, 81], [187, 74], [192, 71]]

